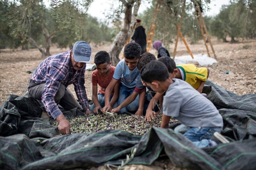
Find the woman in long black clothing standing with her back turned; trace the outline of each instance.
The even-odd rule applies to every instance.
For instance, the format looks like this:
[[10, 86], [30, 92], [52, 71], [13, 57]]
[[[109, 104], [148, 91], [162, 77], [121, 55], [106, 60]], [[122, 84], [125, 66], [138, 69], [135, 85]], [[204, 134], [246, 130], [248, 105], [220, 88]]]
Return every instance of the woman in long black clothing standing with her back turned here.
[[147, 41], [146, 41], [145, 28], [141, 26], [140, 21], [141, 21], [140, 19], [136, 19], [136, 29], [132, 36], [132, 42], [136, 42], [140, 45], [141, 54], [143, 54], [146, 52]]

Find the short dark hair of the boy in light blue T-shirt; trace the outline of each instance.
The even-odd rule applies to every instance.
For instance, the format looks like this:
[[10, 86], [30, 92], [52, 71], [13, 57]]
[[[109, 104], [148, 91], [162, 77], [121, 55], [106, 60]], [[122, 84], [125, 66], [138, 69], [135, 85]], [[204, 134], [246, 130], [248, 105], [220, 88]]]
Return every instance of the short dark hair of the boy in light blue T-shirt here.
[[141, 47], [136, 42], [130, 42], [124, 47], [124, 57], [132, 60], [134, 58], [140, 58]]

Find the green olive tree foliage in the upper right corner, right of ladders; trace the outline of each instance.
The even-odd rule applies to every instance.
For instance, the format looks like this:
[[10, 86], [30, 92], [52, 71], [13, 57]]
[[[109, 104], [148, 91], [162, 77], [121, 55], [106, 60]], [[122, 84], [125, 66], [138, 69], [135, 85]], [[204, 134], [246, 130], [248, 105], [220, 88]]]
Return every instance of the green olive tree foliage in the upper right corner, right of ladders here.
[[256, 25], [255, 3], [256, 0], [234, 0], [222, 6], [211, 24], [212, 35], [224, 41], [230, 36], [231, 42], [235, 38], [249, 38]]

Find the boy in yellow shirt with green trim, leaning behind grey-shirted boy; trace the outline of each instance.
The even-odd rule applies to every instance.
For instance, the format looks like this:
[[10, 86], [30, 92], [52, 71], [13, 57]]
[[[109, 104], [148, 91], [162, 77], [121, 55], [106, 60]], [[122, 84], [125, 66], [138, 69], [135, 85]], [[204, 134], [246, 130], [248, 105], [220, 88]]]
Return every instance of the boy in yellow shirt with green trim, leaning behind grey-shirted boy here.
[[[209, 69], [205, 67], [197, 68], [194, 64], [181, 64], [176, 66], [174, 60], [167, 56], [159, 58], [158, 61], [164, 63], [169, 71], [169, 75], [171, 78], [179, 78], [181, 80], [184, 80], [192, 87], [194, 87], [198, 92], [202, 92], [204, 84], [210, 74]], [[154, 118], [156, 113], [152, 111], [152, 108], [155, 106], [155, 101], [158, 100], [160, 100], [161, 108], [162, 99], [163, 95], [156, 93], [156, 95], [150, 100], [145, 120], [151, 121], [151, 119]]]

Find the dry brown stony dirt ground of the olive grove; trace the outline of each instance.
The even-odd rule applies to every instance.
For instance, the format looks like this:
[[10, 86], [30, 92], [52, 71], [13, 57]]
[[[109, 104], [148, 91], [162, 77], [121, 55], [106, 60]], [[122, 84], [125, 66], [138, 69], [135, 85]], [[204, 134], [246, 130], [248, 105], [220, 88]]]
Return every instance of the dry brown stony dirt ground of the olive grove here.
[[[248, 93], [256, 93], [256, 40], [240, 40], [237, 43], [224, 43], [212, 38], [213, 48], [217, 55], [218, 63], [206, 66], [210, 69], [209, 80], [225, 87], [228, 91], [232, 91], [239, 95]], [[100, 50], [109, 51], [111, 44], [102, 46], [92, 46], [92, 63], [93, 56]], [[203, 41], [196, 44], [188, 44], [193, 55], [207, 54]], [[173, 51], [174, 44], [170, 46]], [[51, 54], [64, 52], [68, 49], [61, 49], [53, 46], [50, 48]], [[171, 51], [171, 52], [172, 52]], [[157, 56], [156, 50], [151, 48], [151, 53]], [[170, 51], [169, 51], [170, 52]], [[179, 41], [176, 56], [189, 55], [182, 41]], [[120, 54], [122, 58], [122, 54]], [[9, 94], [23, 95], [27, 92], [28, 79], [31, 73], [27, 73], [35, 69], [43, 58], [38, 49], [21, 50], [18, 49], [1, 49], [0, 53], [0, 105], [7, 100]], [[226, 72], [229, 70], [229, 73]], [[91, 88], [92, 71], [86, 71], [85, 87], [87, 96], [92, 98]], [[72, 85], [69, 89], [74, 92]], [[136, 165], [128, 166], [126, 170], [132, 169], [173, 169], [168, 160], [155, 161], [152, 166]], [[95, 169], [97, 169], [95, 167]], [[104, 169], [99, 167], [98, 169]], [[174, 168], [179, 169], [179, 168]]]

